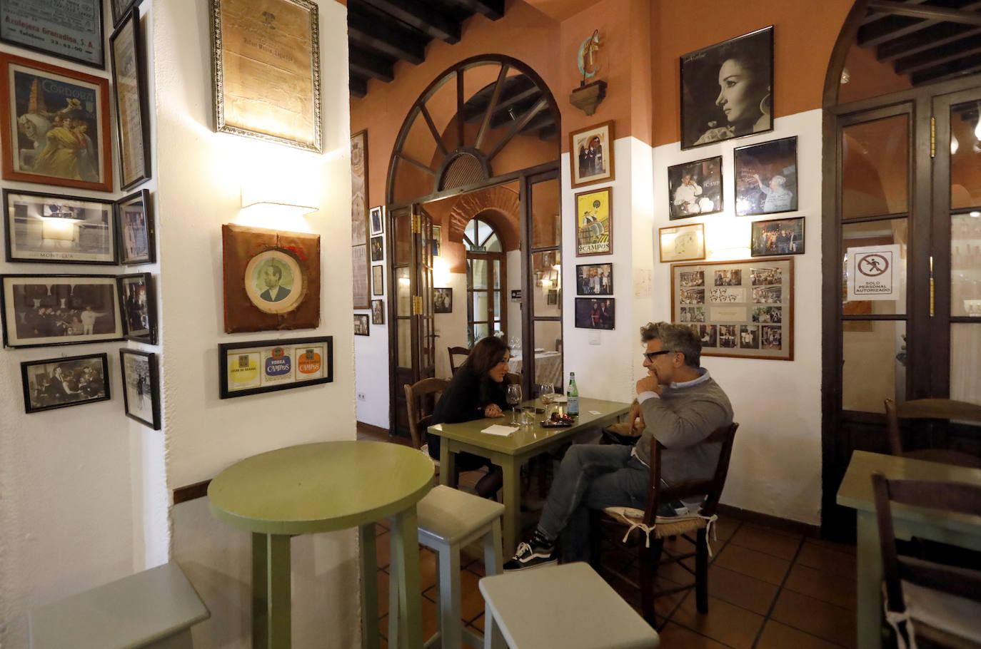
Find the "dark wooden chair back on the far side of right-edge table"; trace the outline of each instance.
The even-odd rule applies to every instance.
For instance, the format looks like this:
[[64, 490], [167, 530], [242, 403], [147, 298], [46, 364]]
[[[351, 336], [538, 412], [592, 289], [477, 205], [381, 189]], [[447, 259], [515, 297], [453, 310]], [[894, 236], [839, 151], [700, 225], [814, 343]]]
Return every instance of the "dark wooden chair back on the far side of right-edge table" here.
[[893, 455], [981, 469], [981, 458], [949, 448], [905, 450], [900, 420], [949, 420], [981, 424], [981, 406], [953, 399], [913, 399], [897, 404], [886, 399], [889, 446]]

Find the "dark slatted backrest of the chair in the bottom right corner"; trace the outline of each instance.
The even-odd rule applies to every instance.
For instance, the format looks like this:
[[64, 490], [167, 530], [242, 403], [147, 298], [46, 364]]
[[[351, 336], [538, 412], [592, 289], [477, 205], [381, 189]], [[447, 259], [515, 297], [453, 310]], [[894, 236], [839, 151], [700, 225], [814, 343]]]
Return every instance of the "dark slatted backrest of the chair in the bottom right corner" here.
[[874, 474], [872, 490], [875, 493], [875, 515], [879, 524], [883, 578], [886, 581], [889, 610], [905, 610], [902, 580], [981, 601], [981, 576], [977, 572], [897, 554], [891, 505], [899, 503], [910, 507], [981, 516], [981, 487], [960, 482], [890, 480], [882, 474]]

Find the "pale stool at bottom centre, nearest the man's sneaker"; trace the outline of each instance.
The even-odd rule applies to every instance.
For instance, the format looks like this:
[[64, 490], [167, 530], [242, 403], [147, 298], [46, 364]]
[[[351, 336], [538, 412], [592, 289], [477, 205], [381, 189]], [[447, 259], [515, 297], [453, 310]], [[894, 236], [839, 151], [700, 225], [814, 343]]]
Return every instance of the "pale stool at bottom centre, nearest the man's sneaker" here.
[[486, 576], [484, 647], [647, 649], [660, 644], [645, 623], [589, 564], [544, 566]]

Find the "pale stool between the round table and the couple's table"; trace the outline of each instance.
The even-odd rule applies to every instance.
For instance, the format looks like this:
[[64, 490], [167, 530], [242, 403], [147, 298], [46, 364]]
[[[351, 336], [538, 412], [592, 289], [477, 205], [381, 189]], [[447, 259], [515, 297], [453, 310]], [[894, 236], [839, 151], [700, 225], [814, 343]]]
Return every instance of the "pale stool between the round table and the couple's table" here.
[[[484, 566], [487, 574], [501, 572], [500, 517], [504, 506], [473, 494], [439, 485], [416, 506], [419, 543], [439, 555], [439, 630], [426, 647], [459, 649], [466, 637], [475, 647], [480, 635], [460, 622], [460, 548], [484, 537]], [[392, 564], [388, 577], [388, 647], [396, 649], [398, 637], [398, 581]]]

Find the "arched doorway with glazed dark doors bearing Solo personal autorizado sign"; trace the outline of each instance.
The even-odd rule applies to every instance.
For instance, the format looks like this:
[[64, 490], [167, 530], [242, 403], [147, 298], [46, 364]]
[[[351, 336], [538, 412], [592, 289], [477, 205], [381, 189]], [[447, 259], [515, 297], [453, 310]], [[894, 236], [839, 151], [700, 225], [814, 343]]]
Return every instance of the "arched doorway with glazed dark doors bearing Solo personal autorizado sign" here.
[[[885, 398], [981, 402], [981, 308], [972, 312], [981, 288], [981, 254], [972, 254], [981, 253], [981, 75], [964, 54], [981, 45], [978, 19], [859, 0], [828, 68], [827, 535], [854, 533], [853, 514], [835, 504], [852, 451], [889, 452]], [[953, 426], [948, 433], [931, 441], [981, 450], [976, 436]]]

